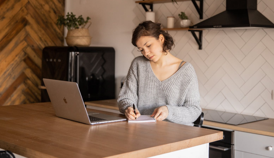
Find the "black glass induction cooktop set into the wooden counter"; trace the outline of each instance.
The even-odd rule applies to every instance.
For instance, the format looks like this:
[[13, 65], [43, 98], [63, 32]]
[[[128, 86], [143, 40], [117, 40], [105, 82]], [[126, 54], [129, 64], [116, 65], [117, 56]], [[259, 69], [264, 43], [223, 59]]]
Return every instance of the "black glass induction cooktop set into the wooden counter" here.
[[233, 124], [233, 125], [245, 124], [245, 123], [268, 119], [266, 117], [242, 115], [242, 114], [235, 114], [231, 112], [208, 110], [208, 109], [204, 109], [203, 112], [204, 112], [204, 120], [220, 122], [224, 124]]

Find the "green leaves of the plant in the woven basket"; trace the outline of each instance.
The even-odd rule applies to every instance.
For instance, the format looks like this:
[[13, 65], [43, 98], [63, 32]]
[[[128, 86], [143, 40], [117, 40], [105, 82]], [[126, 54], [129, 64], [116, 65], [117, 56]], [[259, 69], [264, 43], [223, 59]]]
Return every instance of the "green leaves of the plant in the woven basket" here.
[[79, 29], [79, 28], [85, 28], [89, 20], [90, 20], [90, 17], [88, 16], [87, 16], [87, 20], [84, 20], [82, 15], [76, 18], [76, 16], [72, 12], [71, 14], [69, 14], [68, 12], [68, 14], [66, 15], [66, 18], [64, 18], [61, 15], [58, 16], [56, 25], [59, 25], [59, 26], [64, 25], [65, 27], [68, 28], [68, 30]]

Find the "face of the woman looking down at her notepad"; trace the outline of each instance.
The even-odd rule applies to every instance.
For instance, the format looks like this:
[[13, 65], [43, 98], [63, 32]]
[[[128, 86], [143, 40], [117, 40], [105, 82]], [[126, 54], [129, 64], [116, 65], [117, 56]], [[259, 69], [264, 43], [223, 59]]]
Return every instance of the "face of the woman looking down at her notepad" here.
[[136, 45], [140, 52], [149, 60], [156, 62], [163, 55], [164, 37], [160, 34], [159, 39], [150, 36], [143, 36], [139, 38]]

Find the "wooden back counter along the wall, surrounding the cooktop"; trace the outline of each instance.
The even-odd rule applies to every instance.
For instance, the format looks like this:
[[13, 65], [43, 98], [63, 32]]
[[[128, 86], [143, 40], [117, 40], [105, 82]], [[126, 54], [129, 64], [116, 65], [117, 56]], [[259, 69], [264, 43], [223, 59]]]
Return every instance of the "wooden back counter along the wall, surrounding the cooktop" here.
[[[119, 110], [117, 105], [117, 99], [85, 102], [85, 104]], [[274, 137], [274, 119], [261, 120], [261, 121], [251, 122], [247, 124], [239, 124], [239, 125], [230, 125], [230, 124], [223, 124], [223, 123], [204, 120], [203, 125], [209, 125], [214, 127], [232, 129], [232, 130], [243, 131], [248, 133], [262, 134], [262, 135]]]

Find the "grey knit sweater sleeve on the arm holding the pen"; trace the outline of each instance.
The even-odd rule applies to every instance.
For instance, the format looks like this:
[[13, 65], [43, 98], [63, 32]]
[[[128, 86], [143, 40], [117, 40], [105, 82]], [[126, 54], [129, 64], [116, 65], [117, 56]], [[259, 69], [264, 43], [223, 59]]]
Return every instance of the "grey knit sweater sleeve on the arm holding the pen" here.
[[125, 82], [118, 97], [118, 107], [121, 113], [138, 102], [138, 67], [137, 61], [132, 61]]

